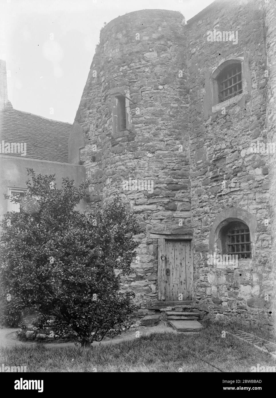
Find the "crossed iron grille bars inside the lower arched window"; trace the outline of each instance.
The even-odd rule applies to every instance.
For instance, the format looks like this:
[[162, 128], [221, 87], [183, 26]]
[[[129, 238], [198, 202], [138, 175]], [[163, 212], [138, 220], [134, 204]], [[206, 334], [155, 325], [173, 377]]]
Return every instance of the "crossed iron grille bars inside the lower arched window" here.
[[248, 228], [229, 230], [226, 237], [227, 254], [237, 254], [238, 259], [251, 258], [251, 240]]

